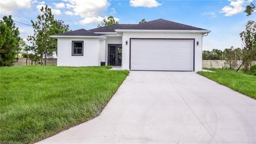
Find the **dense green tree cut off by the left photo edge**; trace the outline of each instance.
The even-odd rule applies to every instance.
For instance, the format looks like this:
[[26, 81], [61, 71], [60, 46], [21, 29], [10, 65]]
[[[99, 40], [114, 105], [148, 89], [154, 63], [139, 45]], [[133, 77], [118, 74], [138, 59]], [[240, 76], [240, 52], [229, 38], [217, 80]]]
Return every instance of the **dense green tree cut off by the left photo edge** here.
[[17, 50], [17, 40], [3, 21], [0, 21], [0, 39], [0, 66], [12, 66]]

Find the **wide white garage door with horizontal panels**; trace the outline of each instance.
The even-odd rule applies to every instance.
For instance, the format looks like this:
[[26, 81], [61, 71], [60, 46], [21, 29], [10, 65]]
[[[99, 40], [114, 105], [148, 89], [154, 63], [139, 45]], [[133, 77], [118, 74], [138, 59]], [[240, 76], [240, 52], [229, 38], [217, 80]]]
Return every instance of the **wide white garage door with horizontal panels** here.
[[193, 71], [193, 39], [132, 39], [131, 70]]

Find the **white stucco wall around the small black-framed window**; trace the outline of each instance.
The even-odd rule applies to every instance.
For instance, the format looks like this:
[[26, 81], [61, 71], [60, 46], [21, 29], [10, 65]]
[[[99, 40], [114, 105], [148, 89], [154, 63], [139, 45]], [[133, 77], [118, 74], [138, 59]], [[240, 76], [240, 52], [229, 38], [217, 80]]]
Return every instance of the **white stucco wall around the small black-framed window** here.
[[[84, 41], [83, 56], [72, 56], [72, 41]], [[99, 38], [58, 38], [57, 66], [100, 66]]]

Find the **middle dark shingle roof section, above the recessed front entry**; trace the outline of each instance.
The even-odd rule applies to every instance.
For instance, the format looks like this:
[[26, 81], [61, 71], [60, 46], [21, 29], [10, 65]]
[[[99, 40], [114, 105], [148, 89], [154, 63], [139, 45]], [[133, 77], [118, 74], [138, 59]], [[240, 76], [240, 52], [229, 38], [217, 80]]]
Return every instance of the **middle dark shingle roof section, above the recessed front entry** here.
[[135, 26], [137, 24], [115, 24], [115, 25], [110, 25], [110, 26], [104, 26], [100, 28], [94, 28], [90, 29], [89, 31], [91, 32], [116, 32], [115, 29], [124, 29], [127, 27]]

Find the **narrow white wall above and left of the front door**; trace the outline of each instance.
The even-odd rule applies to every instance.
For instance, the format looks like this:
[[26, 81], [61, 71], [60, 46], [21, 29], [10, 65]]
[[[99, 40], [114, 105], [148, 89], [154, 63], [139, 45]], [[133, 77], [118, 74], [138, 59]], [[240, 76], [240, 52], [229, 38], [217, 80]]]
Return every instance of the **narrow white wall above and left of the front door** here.
[[[106, 45], [105, 45], [105, 62], [106, 66], [108, 65], [108, 44], [122, 44], [122, 36], [106, 36]], [[103, 61], [102, 61], [103, 62]]]

